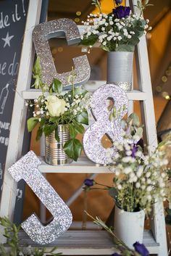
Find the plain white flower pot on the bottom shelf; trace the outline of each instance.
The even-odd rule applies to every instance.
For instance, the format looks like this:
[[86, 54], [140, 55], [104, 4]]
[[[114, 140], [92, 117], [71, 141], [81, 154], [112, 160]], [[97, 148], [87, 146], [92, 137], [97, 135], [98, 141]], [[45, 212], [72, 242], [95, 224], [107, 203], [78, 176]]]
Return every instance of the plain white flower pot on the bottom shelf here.
[[135, 241], [143, 242], [145, 212], [125, 212], [115, 205], [114, 233], [133, 249]]

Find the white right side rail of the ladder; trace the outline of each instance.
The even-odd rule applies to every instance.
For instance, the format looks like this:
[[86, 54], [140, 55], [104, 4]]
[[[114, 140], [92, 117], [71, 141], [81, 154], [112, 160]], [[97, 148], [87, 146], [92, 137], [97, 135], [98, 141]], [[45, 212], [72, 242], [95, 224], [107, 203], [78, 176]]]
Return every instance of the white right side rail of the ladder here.
[[[136, 12], [137, 0], [130, 0], [130, 6]], [[145, 124], [146, 140], [149, 150], [152, 152], [157, 146], [157, 129], [154, 114], [154, 102], [151, 86], [151, 75], [149, 69], [149, 57], [146, 46], [146, 37], [140, 39], [135, 49], [135, 60], [138, 73], [138, 86], [143, 92], [146, 92], [146, 100], [140, 102], [141, 115]], [[167, 256], [167, 238], [165, 231], [164, 207], [162, 202], [157, 202], [153, 209], [153, 218], [151, 220], [151, 231], [157, 242], [159, 242], [159, 256]]]

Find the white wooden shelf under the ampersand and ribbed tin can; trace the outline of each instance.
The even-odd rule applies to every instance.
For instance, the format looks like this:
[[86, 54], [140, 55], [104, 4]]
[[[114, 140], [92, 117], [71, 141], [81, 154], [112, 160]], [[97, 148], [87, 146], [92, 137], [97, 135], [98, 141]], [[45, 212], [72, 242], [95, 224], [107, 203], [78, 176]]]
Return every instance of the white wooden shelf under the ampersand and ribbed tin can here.
[[87, 157], [80, 157], [77, 162], [73, 161], [70, 165], [48, 165], [43, 157], [39, 157], [41, 165], [38, 169], [41, 173], [112, 173], [107, 166], [96, 165]]

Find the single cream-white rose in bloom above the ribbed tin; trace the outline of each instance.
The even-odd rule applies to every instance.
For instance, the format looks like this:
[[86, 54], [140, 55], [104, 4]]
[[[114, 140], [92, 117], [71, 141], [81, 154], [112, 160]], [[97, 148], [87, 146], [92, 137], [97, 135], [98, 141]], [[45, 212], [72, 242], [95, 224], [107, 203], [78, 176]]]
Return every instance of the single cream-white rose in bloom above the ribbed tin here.
[[46, 107], [51, 117], [59, 117], [64, 113], [66, 102], [64, 99], [58, 99], [57, 96], [50, 95], [46, 98]]

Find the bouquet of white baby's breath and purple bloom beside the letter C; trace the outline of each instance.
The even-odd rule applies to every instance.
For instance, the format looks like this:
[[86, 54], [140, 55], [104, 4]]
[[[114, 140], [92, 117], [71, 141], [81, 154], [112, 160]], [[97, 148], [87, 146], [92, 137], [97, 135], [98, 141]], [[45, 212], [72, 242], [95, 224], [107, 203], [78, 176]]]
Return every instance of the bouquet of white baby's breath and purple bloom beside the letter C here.
[[86, 29], [81, 38], [82, 45], [92, 47], [99, 43], [106, 51], [134, 51], [139, 38], [151, 29], [149, 20], [144, 20], [142, 15], [143, 9], [152, 5], [149, 0], [138, 1], [139, 15], [134, 15], [130, 7], [123, 7], [122, 0], [114, 0], [114, 9], [108, 15], [101, 12], [99, 0], [92, 0], [92, 4], [99, 8], [99, 13], [88, 15], [83, 22]]

